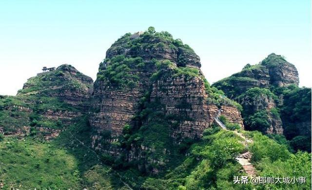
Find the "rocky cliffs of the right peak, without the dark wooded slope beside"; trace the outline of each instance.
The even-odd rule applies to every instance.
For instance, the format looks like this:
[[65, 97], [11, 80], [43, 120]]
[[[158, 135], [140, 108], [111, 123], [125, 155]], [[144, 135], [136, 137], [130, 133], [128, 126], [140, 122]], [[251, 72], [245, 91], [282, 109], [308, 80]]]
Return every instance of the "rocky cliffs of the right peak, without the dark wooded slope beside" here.
[[[247, 124], [248, 117], [250, 118], [260, 110], [265, 110], [268, 120], [265, 133], [282, 134], [282, 120], [271, 112], [277, 107], [279, 99], [270, 90], [290, 85], [298, 86], [298, 84], [298, 72], [294, 65], [282, 56], [270, 54], [259, 64], [247, 64], [241, 72], [217, 81], [213, 86], [242, 104], [247, 129], [252, 129]], [[261, 91], [261, 89], [266, 90]], [[250, 96], [253, 97], [250, 98]]]

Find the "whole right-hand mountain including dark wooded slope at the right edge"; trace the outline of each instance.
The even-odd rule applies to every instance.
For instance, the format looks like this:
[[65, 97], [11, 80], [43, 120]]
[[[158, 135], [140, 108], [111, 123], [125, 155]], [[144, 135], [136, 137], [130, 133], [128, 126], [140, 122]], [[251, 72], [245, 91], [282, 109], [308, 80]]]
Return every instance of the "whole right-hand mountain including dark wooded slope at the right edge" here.
[[294, 149], [311, 152], [310, 143], [302, 145], [311, 141], [311, 88], [299, 88], [298, 84], [295, 66], [270, 54], [259, 64], [247, 64], [241, 72], [212, 86], [243, 106], [247, 130], [285, 134], [298, 141], [292, 142]]

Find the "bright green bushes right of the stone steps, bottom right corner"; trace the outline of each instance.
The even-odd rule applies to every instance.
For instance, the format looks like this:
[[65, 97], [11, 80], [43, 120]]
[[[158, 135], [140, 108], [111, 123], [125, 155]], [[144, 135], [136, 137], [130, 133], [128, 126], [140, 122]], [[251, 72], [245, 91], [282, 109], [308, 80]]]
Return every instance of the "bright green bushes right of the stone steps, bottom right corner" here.
[[284, 144], [278, 144], [260, 132], [243, 131], [254, 140], [249, 147], [253, 153], [252, 161], [260, 176], [306, 177], [304, 184], [273, 184], [270, 189], [311, 189], [311, 153], [297, 152], [292, 154]]

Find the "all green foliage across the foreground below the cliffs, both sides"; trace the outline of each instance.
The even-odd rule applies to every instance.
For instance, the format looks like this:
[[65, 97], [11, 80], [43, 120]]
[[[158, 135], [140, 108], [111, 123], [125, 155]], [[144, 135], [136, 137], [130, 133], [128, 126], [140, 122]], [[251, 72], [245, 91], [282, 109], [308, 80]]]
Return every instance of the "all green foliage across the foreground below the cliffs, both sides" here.
[[[4, 188], [12, 185], [19, 189], [126, 190], [128, 188], [124, 183], [133, 189], [146, 190], [304, 190], [311, 186], [311, 154], [292, 154], [287, 146], [259, 132], [240, 130], [254, 140], [248, 149], [254, 154], [252, 162], [259, 175], [304, 176], [307, 177], [306, 184], [277, 184], [270, 187], [233, 184], [234, 176], [246, 175], [240, 171], [242, 168], [234, 159], [245, 148], [239, 142], [241, 137], [218, 127], [205, 130], [200, 141], [191, 143], [190, 148], [182, 153], [183, 156], [175, 158], [176, 164], [159, 175], [142, 174], [135, 167], [112, 169], [103, 165], [101, 161], [104, 160], [100, 160], [103, 158], [89, 149], [92, 132], [87, 118], [77, 120], [77, 123], [50, 142], [2, 137], [0, 178]], [[125, 133], [131, 131], [128, 128], [125, 126]], [[159, 136], [157, 133], [154, 135]]]

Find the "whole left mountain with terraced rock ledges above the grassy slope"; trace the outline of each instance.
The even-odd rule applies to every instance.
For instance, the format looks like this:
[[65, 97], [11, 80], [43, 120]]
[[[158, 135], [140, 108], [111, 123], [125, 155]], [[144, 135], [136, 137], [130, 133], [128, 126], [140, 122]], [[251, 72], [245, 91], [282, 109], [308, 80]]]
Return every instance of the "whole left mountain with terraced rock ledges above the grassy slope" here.
[[[7, 135], [58, 135], [73, 118], [89, 109], [93, 80], [71, 65], [39, 73], [24, 84], [17, 96], [0, 98], [0, 127]], [[42, 136], [42, 135], [41, 135]]]

